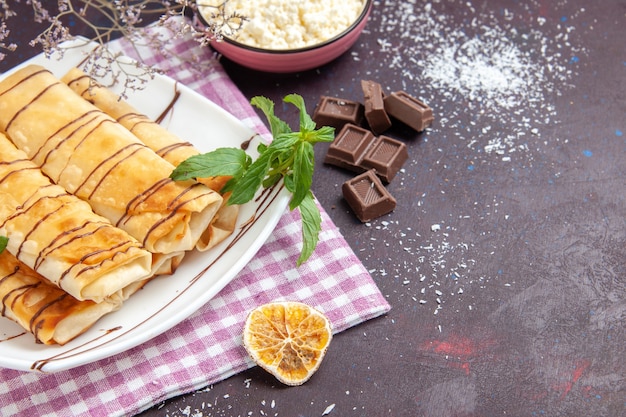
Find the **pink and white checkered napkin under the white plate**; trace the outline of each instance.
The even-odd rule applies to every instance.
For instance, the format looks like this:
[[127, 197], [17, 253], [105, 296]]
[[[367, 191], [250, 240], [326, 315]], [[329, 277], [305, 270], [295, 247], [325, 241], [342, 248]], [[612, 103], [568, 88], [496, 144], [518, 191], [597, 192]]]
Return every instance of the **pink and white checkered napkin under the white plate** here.
[[[114, 46], [123, 50], [127, 45], [117, 41]], [[267, 134], [208, 48], [189, 40], [176, 41], [175, 47], [180, 53], [205, 55], [211, 68], [199, 76], [188, 63], [146, 56], [150, 50], [142, 53], [172, 78]], [[297, 212], [286, 211], [257, 255], [214, 299], [134, 349], [54, 374], [0, 369], [0, 415], [127, 416], [225, 379], [254, 365], [241, 343], [243, 322], [251, 309], [272, 300], [316, 306], [335, 332], [387, 312], [389, 304], [323, 209], [316, 252], [295, 268], [299, 221]]]

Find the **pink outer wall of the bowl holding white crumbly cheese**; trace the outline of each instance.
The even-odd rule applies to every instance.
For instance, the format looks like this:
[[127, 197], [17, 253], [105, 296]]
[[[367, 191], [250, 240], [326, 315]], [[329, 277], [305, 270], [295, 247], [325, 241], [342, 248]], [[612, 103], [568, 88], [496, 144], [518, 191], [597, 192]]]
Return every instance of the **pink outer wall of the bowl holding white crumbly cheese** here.
[[211, 46], [231, 61], [258, 71], [291, 73], [310, 70], [327, 64], [354, 45], [365, 28], [372, 4], [372, 0], [367, 0], [357, 20], [339, 35], [305, 48], [262, 49], [226, 37], [223, 41], [212, 42]]

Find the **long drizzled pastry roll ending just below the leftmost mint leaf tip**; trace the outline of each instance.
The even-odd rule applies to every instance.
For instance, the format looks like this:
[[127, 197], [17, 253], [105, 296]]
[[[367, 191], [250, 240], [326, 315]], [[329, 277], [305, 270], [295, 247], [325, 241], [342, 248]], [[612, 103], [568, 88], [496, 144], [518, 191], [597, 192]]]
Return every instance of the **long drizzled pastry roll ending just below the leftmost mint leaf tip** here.
[[41, 66], [0, 82], [0, 129], [53, 182], [153, 253], [193, 249], [223, 202]]

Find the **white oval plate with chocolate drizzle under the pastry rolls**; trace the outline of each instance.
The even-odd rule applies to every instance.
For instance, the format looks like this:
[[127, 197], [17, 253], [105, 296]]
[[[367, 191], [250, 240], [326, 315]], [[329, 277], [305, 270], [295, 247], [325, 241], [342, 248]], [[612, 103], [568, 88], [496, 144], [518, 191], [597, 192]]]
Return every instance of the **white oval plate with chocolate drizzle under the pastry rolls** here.
[[[83, 57], [81, 48], [67, 51], [60, 61], [39, 55], [0, 78], [33, 63], [61, 77]], [[129, 92], [128, 101], [156, 118], [173, 102], [176, 91], [180, 97], [168, 113], [169, 130], [203, 152], [217, 147], [240, 147], [256, 136], [248, 148], [252, 156], [256, 155], [256, 132], [169, 77], [157, 75], [141, 91]], [[0, 366], [23, 371], [66, 370], [123, 352], [167, 331], [237, 276], [274, 230], [288, 201], [289, 194], [284, 189], [263, 192], [260, 198], [241, 207], [237, 228], [230, 238], [207, 252], [190, 252], [175, 274], [154, 279], [120, 310], [103, 317], [64, 346], [37, 344], [30, 333], [0, 317]]]

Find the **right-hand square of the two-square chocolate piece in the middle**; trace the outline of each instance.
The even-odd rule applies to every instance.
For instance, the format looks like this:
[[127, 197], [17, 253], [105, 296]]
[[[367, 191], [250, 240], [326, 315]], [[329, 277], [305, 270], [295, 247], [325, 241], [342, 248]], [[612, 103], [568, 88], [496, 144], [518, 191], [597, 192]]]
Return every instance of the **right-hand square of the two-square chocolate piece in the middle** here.
[[408, 157], [409, 153], [403, 142], [388, 136], [380, 136], [363, 157], [361, 166], [376, 170], [379, 177], [390, 183]]

